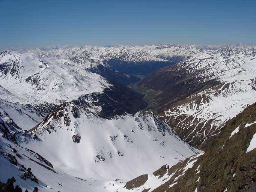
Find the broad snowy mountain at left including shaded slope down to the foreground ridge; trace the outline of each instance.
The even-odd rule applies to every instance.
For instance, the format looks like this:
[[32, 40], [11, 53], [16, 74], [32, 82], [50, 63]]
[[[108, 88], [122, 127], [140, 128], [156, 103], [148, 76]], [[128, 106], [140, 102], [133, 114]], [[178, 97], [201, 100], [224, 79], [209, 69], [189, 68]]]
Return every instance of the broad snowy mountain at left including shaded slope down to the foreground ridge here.
[[0, 54], [0, 108], [22, 129], [30, 129], [61, 101], [102, 93], [110, 84], [87, 65], [60, 63], [33, 53]]

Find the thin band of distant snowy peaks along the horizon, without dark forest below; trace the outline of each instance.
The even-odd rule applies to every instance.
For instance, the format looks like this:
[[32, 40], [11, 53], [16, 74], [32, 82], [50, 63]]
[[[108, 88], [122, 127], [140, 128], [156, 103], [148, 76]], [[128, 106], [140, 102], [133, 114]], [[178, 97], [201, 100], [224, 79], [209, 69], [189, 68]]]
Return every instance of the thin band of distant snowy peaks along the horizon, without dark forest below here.
[[[255, 49], [255, 45], [144, 45], [144, 46], [57, 46], [30, 49], [28, 52], [58, 58], [101, 58], [102, 60], [119, 60], [122, 62], [180, 62], [188, 58], [210, 54], [223, 48]], [[24, 52], [24, 51], [23, 51]]]

